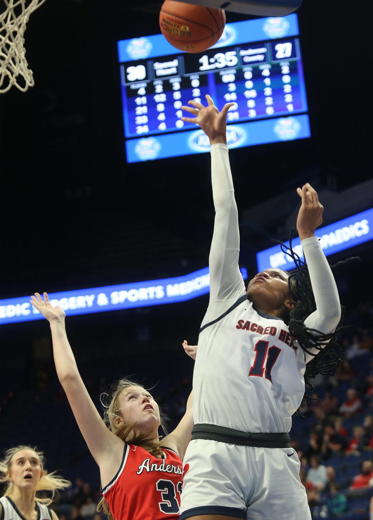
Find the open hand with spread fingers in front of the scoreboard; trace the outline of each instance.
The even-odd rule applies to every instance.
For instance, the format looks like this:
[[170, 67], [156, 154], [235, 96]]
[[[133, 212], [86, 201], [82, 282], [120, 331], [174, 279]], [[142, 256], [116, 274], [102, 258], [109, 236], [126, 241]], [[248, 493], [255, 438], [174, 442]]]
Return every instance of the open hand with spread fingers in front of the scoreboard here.
[[195, 118], [182, 117], [182, 121], [195, 123], [203, 129], [209, 137], [211, 145], [216, 142], [224, 142], [227, 144], [227, 112], [234, 103], [225, 103], [221, 112], [214, 105], [211, 96], [206, 94], [207, 107], [197, 101], [188, 101], [192, 107], [183, 105], [182, 110], [195, 115]]

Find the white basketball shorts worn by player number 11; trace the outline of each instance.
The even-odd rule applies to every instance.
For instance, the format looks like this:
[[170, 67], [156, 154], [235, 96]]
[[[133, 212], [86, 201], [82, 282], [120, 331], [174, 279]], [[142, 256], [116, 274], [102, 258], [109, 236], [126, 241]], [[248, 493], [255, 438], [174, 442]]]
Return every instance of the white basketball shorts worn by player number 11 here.
[[245, 520], [311, 520], [299, 478], [300, 462], [292, 448], [252, 448], [195, 439], [183, 463], [180, 520], [206, 514]]

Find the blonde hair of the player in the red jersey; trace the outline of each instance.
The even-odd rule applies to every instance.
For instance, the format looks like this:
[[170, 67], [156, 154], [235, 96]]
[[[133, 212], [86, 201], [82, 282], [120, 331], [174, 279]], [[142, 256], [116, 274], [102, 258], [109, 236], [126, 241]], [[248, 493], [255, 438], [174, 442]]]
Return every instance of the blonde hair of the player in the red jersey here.
[[[161, 443], [155, 441], [155, 439], [151, 439], [148, 437], [149, 432], [136, 433], [134, 427], [136, 423], [131, 424], [121, 424], [120, 426], [115, 425], [115, 419], [123, 419], [121, 417], [121, 405], [119, 403], [119, 396], [122, 394], [124, 390], [126, 390], [130, 386], [136, 386], [145, 390], [145, 388], [136, 383], [135, 381], [131, 381], [130, 379], [121, 379], [119, 380], [111, 389], [111, 400], [109, 405], [106, 405], [103, 396], [110, 399], [109, 394], [101, 395], [101, 404], [104, 407], [104, 422], [108, 426], [109, 430], [111, 430], [115, 435], [117, 435], [120, 439], [122, 439], [126, 444], [135, 444], [136, 446], [140, 446], [144, 448], [146, 451], [149, 451], [151, 455], [154, 457], [161, 457], [162, 449]], [[161, 416], [161, 424], [162, 430], [167, 435], [166, 427], [165, 427], [165, 417], [161, 410], [159, 410], [159, 414]], [[105, 497], [102, 497], [97, 505], [97, 511], [103, 511], [106, 515], [108, 515], [109, 520], [113, 520], [113, 516], [109, 509], [108, 502], [106, 502]]]

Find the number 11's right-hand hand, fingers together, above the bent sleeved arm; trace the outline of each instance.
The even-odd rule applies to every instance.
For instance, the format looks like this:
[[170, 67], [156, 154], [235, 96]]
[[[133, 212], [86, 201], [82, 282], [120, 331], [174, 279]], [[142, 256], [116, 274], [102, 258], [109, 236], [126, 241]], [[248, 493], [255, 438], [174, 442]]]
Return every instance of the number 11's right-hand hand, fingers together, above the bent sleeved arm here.
[[297, 193], [302, 199], [297, 218], [297, 231], [299, 238], [312, 237], [315, 229], [323, 223], [324, 206], [318, 202], [317, 192], [309, 183], [297, 188]]

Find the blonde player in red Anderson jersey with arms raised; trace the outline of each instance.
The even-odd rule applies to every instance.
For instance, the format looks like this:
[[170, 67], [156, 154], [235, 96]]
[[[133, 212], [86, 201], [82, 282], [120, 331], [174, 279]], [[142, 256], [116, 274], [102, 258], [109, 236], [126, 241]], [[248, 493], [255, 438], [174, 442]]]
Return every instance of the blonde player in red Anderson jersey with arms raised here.
[[[58, 379], [69, 399], [89, 451], [100, 468], [102, 508], [113, 520], [177, 520], [182, 458], [193, 427], [192, 397], [173, 432], [159, 442], [159, 408], [141, 385], [117, 383], [101, 419], [78, 372], [65, 331], [65, 313], [52, 307], [47, 293], [31, 303], [49, 321]], [[193, 357], [193, 347], [184, 349]], [[185, 471], [185, 469], [184, 469]]]

